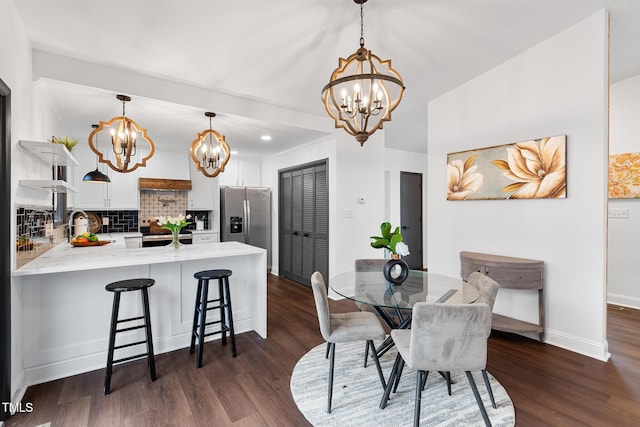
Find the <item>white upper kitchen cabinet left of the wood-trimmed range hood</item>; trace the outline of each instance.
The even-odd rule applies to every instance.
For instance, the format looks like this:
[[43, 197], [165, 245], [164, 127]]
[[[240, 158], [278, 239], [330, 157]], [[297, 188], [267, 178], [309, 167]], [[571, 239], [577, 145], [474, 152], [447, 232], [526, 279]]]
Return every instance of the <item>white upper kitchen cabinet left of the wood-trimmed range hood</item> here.
[[[96, 168], [96, 155], [89, 149], [77, 150], [81, 174]], [[110, 183], [84, 182], [78, 183], [78, 197], [76, 208], [106, 209], [106, 210], [135, 210], [138, 209], [138, 173], [137, 170], [128, 173], [116, 172], [105, 164], [99, 164], [98, 169], [107, 174]]]

